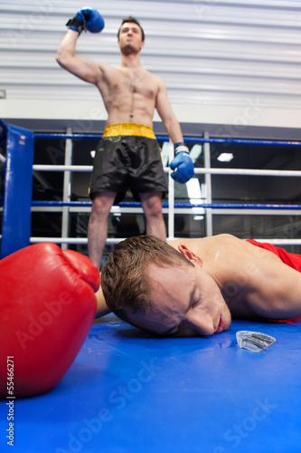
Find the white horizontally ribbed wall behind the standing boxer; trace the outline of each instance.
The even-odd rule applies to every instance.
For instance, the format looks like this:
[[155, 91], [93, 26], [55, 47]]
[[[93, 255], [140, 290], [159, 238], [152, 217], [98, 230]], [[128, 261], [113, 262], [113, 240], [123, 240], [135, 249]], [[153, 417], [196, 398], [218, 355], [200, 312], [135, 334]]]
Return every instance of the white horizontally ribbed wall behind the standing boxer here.
[[[0, 0], [1, 118], [106, 119], [97, 89], [55, 62], [65, 24], [83, 5]], [[90, 5], [106, 27], [101, 34], [82, 34], [78, 53], [118, 64], [118, 26], [135, 15], [146, 32], [142, 63], [165, 80], [181, 122], [300, 128], [301, 0]]]

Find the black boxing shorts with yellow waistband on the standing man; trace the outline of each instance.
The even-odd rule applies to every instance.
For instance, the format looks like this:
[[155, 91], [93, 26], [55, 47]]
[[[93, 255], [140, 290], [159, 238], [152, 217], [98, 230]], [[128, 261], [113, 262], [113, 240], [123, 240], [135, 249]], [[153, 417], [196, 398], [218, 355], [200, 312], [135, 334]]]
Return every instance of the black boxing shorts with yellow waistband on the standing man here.
[[162, 192], [168, 188], [161, 149], [151, 127], [137, 123], [106, 126], [94, 158], [89, 197], [99, 192], [115, 192], [115, 204], [130, 188], [136, 200], [140, 193]]

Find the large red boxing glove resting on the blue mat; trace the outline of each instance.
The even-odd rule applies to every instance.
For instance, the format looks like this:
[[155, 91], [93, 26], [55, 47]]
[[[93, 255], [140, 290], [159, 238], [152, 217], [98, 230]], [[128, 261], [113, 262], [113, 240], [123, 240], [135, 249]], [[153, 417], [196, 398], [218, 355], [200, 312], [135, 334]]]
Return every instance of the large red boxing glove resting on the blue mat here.
[[51, 243], [0, 261], [0, 396], [52, 390], [71, 367], [96, 313], [99, 270]]

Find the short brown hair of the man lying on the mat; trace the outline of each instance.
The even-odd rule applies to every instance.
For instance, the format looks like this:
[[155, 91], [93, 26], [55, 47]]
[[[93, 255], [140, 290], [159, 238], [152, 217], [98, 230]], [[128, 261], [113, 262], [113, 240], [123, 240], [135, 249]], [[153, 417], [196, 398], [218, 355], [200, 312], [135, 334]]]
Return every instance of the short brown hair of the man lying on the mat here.
[[150, 264], [193, 265], [158, 237], [134, 236], [120, 242], [102, 267], [105, 301], [127, 323], [131, 323], [127, 313], [147, 313], [151, 308], [151, 284], [146, 272]]

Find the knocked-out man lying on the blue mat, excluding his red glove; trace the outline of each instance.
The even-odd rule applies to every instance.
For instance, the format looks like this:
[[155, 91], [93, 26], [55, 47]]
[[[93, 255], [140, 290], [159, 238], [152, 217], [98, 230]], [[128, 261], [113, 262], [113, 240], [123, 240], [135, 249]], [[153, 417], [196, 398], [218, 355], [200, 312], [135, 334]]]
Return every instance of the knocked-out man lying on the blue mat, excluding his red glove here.
[[[300, 316], [300, 272], [301, 255], [271, 244], [230, 235], [168, 243], [138, 236], [108, 256], [101, 287], [108, 311], [136, 327], [159, 335], [212, 335], [229, 329], [231, 316]], [[101, 304], [99, 297], [103, 310]]]

